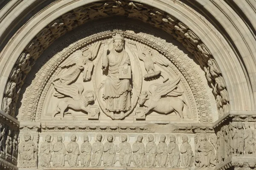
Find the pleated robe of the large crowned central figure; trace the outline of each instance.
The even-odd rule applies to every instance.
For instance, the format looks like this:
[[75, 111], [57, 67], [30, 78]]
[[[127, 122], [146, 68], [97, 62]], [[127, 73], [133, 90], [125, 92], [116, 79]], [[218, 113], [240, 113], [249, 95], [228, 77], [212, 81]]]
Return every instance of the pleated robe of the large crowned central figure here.
[[107, 56], [107, 61], [102, 60], [102, 66], [108, 66], [103, 98], [106, 101], [106, 110], [109, 112], [125, 112], [131, 108], [130, 81], [119, 79], [119, 66], [125, 63], [131, 65], [129, 55], [125, 50], [120, 53], [111, 50]]

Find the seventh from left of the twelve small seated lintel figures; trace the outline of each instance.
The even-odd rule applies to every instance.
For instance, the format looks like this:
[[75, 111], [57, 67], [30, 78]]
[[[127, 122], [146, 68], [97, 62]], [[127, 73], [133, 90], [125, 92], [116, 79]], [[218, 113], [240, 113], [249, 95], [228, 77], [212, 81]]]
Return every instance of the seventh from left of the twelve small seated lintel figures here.
[[119, 153], [119, 163], [123, 167], [131, 164], [131, 145], [127, 142], [127, 135], [121, 135], [119, 146], [116, 145], [116, 152]]

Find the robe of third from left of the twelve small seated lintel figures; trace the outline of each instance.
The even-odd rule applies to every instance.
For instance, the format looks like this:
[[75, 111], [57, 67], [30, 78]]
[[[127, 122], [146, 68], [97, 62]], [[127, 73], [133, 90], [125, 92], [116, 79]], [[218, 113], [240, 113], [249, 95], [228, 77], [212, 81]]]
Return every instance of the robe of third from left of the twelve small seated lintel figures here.
[[78, 165], [78, 156], [80, 155], [79, 146], [75, 141], [67, 144], [67, 162], [70, 167]]

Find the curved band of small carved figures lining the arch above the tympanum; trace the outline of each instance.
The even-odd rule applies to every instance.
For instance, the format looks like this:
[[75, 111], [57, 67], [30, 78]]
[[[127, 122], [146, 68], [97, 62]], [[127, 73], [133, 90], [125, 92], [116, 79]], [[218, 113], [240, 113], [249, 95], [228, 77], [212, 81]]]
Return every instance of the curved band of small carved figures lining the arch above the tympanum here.
[[[115, 3], [109, 3], [107, 7], [104, 7], [104, 4], [99, 7], [97, 6], [89, 6], [90, 10], [95, 8], [94, 10], [99, 10], [99, 16], [101, 16], [102, 12], [107, 14], [109, 11], [111, 11], [111, 14], [113, 15], [112, 9], [113, 6], [116, 5]], [[81, 17], [79, 15], [79, 10], [85, 10], [86, 7], [79, 7], [78, 9], [74, 9], [71, 12], [68, 12], [67, 14], [62, 15], [57, 20], [55, 20], [53, 23], [49, 24], [46, 28], [44, 28], [36, 37], [29, 43], [29, 46], [24, 49], [23, 53], [21, 54], [19, 60], [15, 64], [15, 67], [12, 69], [12, 73], [9, 76], [9, 81], [6, 85], [6, 90], [4, 92], [4, 99], [3, 99], [3, 105], [2, 109], [12, 116], [14, 116], [15, 113], [15, 106], [17, 103], [18, 95], [20, 92], [20, 88], [23, 85], [23, 81], [26, 78], [27, 73], [30, 71], [30, 68], [35, 63], [35, 61], [38, 59], [38, 57], [42, 54], [42, 52], [47, 49], [47, 47], [57, 38], [66, 33], [67, 31], [70, 31], [74, 29], [76, 26], [79, 26], [87, 20], [92, 19], [92, 16], [82, 16], [83, 19], [86, 18], [86, 20], [79, 20], [75, 18], [75, 20], [70, 19], [70, 16], [72, 14], [76, 15], [76, 17]], [[127, 15], [128, 17], [143, 20], [144, 22], [150, 23], [153, 26], [157, 26], [160, 29], [165, 30], [169, 34], [173, 35], [178, 41], [180, 41], [186, 49], [188, 49], [190, 52], [192, 52], [193, 55], [198, 59], [199, 63], [202, 67], [207, 67], [207, 73], [209, 72], [209, 66], [207, 62], [209, 60], [214, 61], [212, 58], [212, 55], [210, 54], [207, 47], [202, 43], [202, 41], [193, 33], [189, 28], [181, 23], [179, 20], [177, 20], [175, 17], [172, 17], [169, 14], [165, 14], [164, 12], [161, 12], [160, 10], [153, 9], [151, 6], [143, 6], [142, 8], [145, 9], [146, 14], [149, 14], [151, 16], [143, 14], [143, 10], [137, 10], [134, 8], [131, 8], [131, 6], [128, 6], [127, 3], [123, 3], [123, 6], [119, 6], [122, 10], [124, 10], [123, 15]], [[135, 10], [135, 11], [134, 11]], [[144, 12], [145, 12], [144, 11]], [[138, 12], [136, 15], [129, 15], [134, 14]], [[78, 13], [78, 14], [77, 14]], [[108, 14], [111, 16], [111, 14]], [[117, 12], [117, 14], [119, 14]], [[97, 14], [95, 13], [97, 16]], [[100, 18], [94, 16], [95, 18]], [[143, 16], [144, 18], [141, 18]], [[139, 18], [137, 18], [139, 17]], [[80, 18], [81, 19], [81, 18]], [[22, 61], [22, 57], [24, 58], [24, 55], [29, 58], [29, 60], [26, 60], [25, 62]], [[20, 61], [21, 60], [21, 61]], [[26, 68], [26, 69], [24, 69]], [[207, 75], [207, 74], [206, 74]], [[209, 75], [209, 74], [208, 74]], [[226, 86], [224, 84], [223, 78], [221, 73], [218, 73], [217, 78], [221, 79], [222, 84], [219, 85], [215, 81], [216, 77], [208, 77], [207, 80], [210, 80], [210, 84], [213, 86], [213, 92], [215, 94], [218, 105], [218, 110], [220, 115], [224, 114], [224, 112], [229, 111], [229, 100], [222, 100], [222, 95], [220, 91], [216, 90], [216, 86], [222, 86], [221, 91], [224, 90], [226, 97], [227, 97], [227, 90]], [[219, 81], [219, 80], [218, 80]], [[13, 92], [12, 92], [13, 91]], [[224, 101], [224, 102], [223, 102]], [[225, 106], [225, 110], [223, 109]]]

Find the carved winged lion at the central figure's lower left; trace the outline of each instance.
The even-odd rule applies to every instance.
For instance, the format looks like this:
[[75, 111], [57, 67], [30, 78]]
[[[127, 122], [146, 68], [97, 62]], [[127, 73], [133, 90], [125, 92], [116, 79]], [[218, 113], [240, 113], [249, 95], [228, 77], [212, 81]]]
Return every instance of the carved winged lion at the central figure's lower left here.
[[58, 113], [61, 114], [61, 119], [64, 118], [65, 113], [70, 113], [75, 118], [72, 112], [65, 112], [67, 108], [84, 111], [91, 116], [99, 114], [99, 107], [93, 111], [90, 106], [88, 106], [89, 104], [93, 104], [96, 100], [96, 94], [92, 90], [87, 90], [83, 93], [84, 86], [79, 83], [74, 83], [72, 85], [60, 85], [53, 82], [53, 85], [57, 92], [69, 98], [63, 98], [58, 102], [56, 107], [57, 113], [54, 113], [52, 118], [54, 118]]

